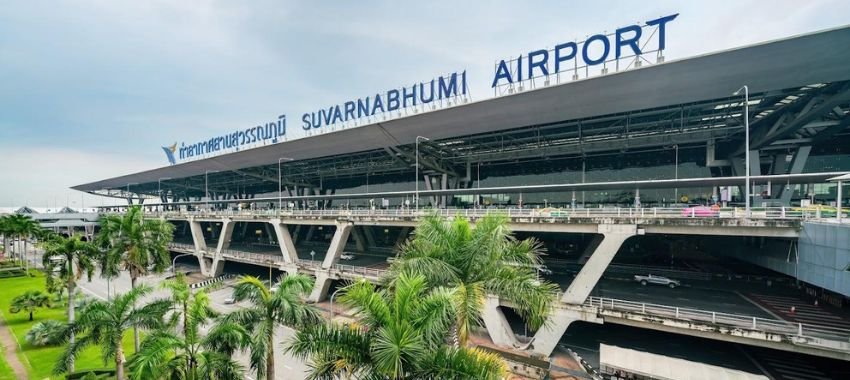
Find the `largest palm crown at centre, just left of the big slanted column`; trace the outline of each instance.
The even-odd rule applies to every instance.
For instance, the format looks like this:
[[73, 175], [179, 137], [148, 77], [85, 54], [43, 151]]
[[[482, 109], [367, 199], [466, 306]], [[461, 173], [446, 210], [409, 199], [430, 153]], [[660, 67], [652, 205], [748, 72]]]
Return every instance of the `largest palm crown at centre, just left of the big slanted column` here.
[[481, 325], [487, 294], [516, 305], [530, 328], [543, 325], [558, 287], [539, 280], [541, 254], [543, 248], [536, 240], [511, 235], [504, 215], [488, 214], [476, 221], [475, 228], [462, 217], [446, 220], [432, 215], [419, 223], [414, 238], [401, 247], [388, 278], [400, 273], [422, 275], [429, 284], [452, 288], [453, 334], [464, 346], [472, 327]]

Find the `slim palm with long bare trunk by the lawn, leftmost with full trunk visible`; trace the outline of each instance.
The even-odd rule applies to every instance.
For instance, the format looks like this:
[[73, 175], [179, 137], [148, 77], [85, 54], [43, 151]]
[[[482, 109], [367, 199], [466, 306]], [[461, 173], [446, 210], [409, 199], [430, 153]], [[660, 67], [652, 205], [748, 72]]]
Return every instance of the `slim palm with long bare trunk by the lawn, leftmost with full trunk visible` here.
[[[48, 240], [42, 242], [44, 256], [43, 265], [48, 273], [48, 285], [53, 282], [54, 275], [58, 276], [68, 290], [68, 323], [74, 323], [74, 295], [77, 290], [77, 281], [88, 276], [91, 281], [94, 274], [94, 261], [99, 253], [94, 244], [83, 241], [79, 235], [64, 237], [62, 235], [50, 235]], [[59, 268], [54, 273], [54, 268]], [[62, 296], [62, 293], [59, 293]], [[70, 331], [68, 342], [74, 344], [74, 332]], [[74, 372], [74, 358], [70, 358], [68, 372]]]

